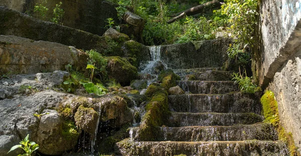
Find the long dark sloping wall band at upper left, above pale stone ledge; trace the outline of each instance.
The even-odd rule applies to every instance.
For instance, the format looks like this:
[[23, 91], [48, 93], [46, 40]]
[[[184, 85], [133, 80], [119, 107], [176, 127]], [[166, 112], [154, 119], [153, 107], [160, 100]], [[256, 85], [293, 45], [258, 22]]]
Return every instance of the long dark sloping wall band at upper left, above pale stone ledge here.
[[0, 6], [0, 34], [15, 35], [33, 40], [45, 40], [78, 49], [96, 49], [106, 46], [105, 38], [67, 26], [46, 22], [29, 15]]

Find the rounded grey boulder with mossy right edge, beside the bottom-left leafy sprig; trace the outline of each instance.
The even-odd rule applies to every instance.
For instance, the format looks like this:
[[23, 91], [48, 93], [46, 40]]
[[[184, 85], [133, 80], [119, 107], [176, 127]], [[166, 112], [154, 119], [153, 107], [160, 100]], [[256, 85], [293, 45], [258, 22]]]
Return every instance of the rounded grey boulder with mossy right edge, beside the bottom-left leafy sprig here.
[[[78, 133], [70, 136], [72, 130], [64, 127], [64, 121], [55, 110], [46, 110], [49, 114], [41, 117], [39, 130], [37, 131], [36, 140], [40, 144], [40, 151], [43, 154], [59, 155], [72, 149], [77, 144]], [[67, 131], [67, 133], [66, 133]]]

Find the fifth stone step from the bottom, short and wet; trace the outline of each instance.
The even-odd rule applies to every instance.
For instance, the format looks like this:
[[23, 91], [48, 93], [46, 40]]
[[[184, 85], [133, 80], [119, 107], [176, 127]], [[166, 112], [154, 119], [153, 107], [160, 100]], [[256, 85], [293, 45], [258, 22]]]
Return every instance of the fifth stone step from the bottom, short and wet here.
[[178, 80], [176, 83], [189, 93], [220, 94], [239, 90], [234, 81]]

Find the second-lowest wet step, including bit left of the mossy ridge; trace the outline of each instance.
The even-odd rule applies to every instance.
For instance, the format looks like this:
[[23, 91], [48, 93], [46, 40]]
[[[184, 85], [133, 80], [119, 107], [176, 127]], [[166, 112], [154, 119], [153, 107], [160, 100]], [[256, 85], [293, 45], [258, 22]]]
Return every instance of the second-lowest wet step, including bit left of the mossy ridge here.
[[[130, 129], [130, 138], [142, 141], [140, 127]], [[277, 140], [277, 133], [269, 123], [236, 124], [232, 126], [183, 126], [161, 127], [157, 141], [236, 141], [236, 140]]]

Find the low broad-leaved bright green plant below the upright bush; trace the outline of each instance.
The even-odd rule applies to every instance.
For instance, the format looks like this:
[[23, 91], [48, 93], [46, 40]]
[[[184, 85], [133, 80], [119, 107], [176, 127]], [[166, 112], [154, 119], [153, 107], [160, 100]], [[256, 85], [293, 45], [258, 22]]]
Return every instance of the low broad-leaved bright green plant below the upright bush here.
[[80, 81], [80, 84], [83, 84], [86, 91], [89, 93], [95, 93], [97, 95], [103, 95], [107, 93], [107, 88], [101, 83], [94, 84], [93, 82]]

